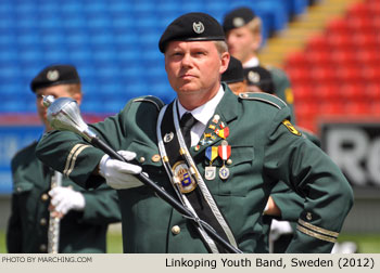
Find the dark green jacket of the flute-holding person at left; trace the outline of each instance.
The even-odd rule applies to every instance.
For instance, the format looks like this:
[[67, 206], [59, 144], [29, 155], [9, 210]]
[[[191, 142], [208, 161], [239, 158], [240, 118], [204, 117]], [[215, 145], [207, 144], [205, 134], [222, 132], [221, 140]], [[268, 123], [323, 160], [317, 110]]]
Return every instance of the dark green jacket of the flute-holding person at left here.
[[[7, 230], [7, 247], [13, 253], [47, 252], [51, 177], [53, 171], [35, 154], [37, 142], [12, 159], [12, 210]], [[121, 221], [117, 194], [106, 185], [86, 191], [67, 178], [62, 186], [81, 192], [84, 211], [68, 211], [61, 220], [59, 252], [105, 252], [109, 223]]]

